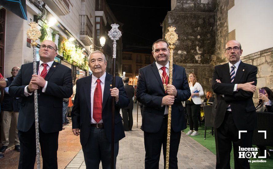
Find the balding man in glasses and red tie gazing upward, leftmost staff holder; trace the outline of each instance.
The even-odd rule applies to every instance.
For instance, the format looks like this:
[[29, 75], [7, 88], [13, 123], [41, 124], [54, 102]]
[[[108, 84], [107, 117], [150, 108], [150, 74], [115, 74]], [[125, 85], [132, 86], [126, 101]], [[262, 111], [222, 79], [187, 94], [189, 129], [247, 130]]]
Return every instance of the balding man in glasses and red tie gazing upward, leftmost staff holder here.
[[71, 69], [54, 61], [57, 46], [53, 41], [43, 41], [39, 50], [37, 73], [33, 73], [33, 63], [21, 66], [10, 85], [12, 97], [23, 97], [18, 117], [20, 159], [18, 168], [33, 168], [36, 157], [36, 137], [34, 123], [34, 96], [38, 90], [39, 135], [43, 168], [58, 168], [57, 150], [59, 131], [62, 130], [63, 98], [72, 95]]

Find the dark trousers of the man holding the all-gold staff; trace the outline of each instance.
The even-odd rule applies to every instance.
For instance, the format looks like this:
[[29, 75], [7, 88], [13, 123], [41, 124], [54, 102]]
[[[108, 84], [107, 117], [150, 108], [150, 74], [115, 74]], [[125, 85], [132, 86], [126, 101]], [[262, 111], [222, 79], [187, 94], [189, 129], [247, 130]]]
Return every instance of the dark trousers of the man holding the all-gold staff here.
[[[164, 118], [157, 133], [144, 132], [145, 169], [158, 169], [161, 147], [163, 145], [164, 168], [166, 165], [167, 122]], [[174, 132], [171, 128], [169, 169], [177, 169], [177, 152], [180, 143], [181, 131]]]

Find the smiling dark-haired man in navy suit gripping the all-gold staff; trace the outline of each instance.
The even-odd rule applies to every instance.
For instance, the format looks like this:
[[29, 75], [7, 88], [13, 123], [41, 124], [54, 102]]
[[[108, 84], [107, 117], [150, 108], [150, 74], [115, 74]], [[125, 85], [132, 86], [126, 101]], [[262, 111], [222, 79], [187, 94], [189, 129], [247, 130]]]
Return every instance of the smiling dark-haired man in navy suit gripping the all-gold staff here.
[[[136, 88], [136, 98], [144, 105], [142, 130], [144, 131], [146, 151], [145, 168], [156, 169], [159, 167], [162, 145], [165, 166], [168, 105], [172, 105], [169, 168], [178, 168], [177, 152], [181, 131], [186, 128], [181, 101], [190, 97], [190, 88], [185, 68], [175, 64], [173, 64], [173, 83], [172, 85], [168, 84], [170, 51], [166, 41], [159, 39], [154, 42], [152, 54], [156, 61], [139, 69]], [[167, 85], [166, 90], [165, 85]]]

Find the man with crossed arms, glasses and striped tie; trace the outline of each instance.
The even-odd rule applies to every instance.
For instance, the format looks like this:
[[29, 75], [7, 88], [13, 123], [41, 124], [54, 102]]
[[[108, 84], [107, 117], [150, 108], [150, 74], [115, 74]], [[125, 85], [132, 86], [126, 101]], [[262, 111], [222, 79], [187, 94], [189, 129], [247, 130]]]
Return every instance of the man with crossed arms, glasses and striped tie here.
[[[243, 50], [238, 41], [225, 45], [228, 63], [215, 66], [212, 89], [216, 93], [212, 105], [215, 130], [216, 168], [230, 168], [230, 151], [234, 151], [235, 168], [250, 168], [247, 158], [239, 158], [240, 147], [252, 147], [253, 130], [257, 126], [252, 100], [257, 84], [257, 67], [240, 60]], [[240, 133], [245, 130], [247, 132]]]

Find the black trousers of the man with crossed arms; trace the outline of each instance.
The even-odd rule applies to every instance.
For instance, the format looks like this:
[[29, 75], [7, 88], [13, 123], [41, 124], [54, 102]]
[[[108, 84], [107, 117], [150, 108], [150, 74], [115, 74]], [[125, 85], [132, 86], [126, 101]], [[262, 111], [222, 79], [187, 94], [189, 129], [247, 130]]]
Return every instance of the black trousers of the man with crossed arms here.
[[234, 167], [235, 169], [250, 168], [248, 158], [239, 158], [240, 147], [252, 147], [253, 131], [241, 132], [239, 139], [239, 130], [234, 124], [232, 114], [226, 112], [223, 123], [215, 129], [216, 143], [216, 168], [230, 169], [230, 152], [233, 144]]

